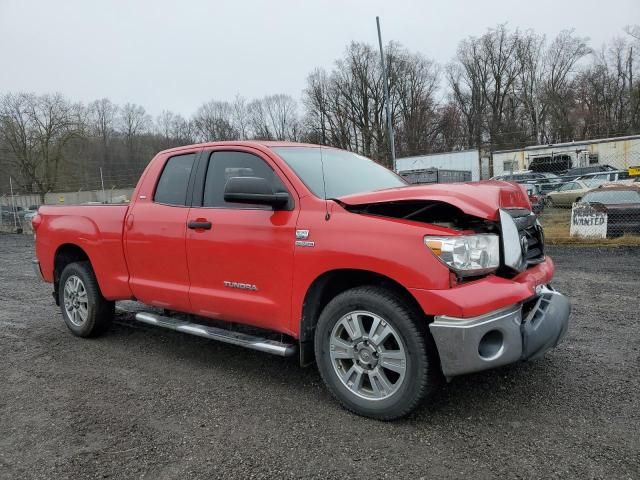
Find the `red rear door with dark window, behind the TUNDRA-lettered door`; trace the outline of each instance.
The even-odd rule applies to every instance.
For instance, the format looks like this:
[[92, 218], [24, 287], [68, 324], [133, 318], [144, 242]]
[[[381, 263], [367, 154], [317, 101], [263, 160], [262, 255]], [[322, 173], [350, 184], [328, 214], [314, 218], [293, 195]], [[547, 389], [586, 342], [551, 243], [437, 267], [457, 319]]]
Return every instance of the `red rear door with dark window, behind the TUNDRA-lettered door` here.
[[156, 171], [152, 164], [125, 219], [129, 284], [143, 303], [190, 311], [185, 235], [198, 155], [167, 155]]

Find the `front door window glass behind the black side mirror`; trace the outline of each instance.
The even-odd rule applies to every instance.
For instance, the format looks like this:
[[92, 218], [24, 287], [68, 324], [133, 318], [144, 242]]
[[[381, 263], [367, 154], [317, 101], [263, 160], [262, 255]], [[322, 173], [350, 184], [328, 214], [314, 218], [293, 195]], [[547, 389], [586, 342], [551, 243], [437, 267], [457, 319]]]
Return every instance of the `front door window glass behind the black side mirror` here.
[[268, 208], [225, 202], [224, 187], [231, 177], [262, 177], [272, 185], [274, 192], [287, 191], [278, 175], [260, 157], [246, 152], [213, 152], [204, 184], [204, 207]]

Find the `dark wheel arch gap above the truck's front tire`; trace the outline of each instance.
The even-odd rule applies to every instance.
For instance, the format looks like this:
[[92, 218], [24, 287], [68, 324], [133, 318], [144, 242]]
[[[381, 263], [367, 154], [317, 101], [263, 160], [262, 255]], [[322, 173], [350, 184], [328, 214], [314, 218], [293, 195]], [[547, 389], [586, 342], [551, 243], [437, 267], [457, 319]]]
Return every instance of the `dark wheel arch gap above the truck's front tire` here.
[[[311, 283], [302, 304], [299, 329], [300, 364], [302, 366], [311, 365], [315, 361], [314, 335], [316, 325], [327, 303], [346, 290], [364, 285], [378, 285], [387, 288], [408, 302], [415, 311], [424, 315], [418, 301], [409, 290], [386, 275], [361, 269], [336, 269], [324, 272]], [[427, 321], [426, 315], [425, 321]]]

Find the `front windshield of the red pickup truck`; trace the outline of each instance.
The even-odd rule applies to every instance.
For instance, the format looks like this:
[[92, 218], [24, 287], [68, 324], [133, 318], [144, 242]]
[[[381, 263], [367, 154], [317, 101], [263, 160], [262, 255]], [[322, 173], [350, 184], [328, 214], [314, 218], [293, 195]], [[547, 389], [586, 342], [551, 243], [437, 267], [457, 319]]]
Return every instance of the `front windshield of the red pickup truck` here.
[[[373, 160], [326, 147], [272, 147], [317, 197], [339, 198], [407, 185]], [[322, 153], [322, 158], [320, 154]], [[324, 184], [322, 170], [324, 164]], [[326, 188], [326, 194], [324, 194]]]

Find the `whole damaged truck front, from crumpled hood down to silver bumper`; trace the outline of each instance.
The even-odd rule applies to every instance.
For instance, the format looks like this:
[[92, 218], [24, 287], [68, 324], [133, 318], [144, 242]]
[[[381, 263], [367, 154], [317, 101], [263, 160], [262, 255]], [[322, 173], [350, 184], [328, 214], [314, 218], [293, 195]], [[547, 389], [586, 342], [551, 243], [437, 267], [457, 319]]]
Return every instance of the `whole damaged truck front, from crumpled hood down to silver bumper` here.
[[403, 190], [341, 200], [354, 213], [442, 227], [442, 234], [425, 235], [425, 245], [456, 281], [445, 290], [410, 290], [433, 318], [429, 329], [445, 377], [537, 359], [562, 340], [571, 307], [549, 285], [553, 262], [519, 186]]

